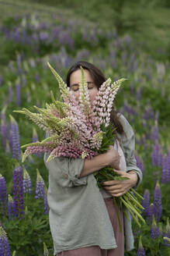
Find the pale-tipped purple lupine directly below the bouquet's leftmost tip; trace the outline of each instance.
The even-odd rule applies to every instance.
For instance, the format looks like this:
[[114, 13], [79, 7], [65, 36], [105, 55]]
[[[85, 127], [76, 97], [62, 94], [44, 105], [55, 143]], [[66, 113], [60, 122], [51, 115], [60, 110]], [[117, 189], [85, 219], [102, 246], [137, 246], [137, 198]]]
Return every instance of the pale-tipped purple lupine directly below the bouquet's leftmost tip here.
[[16, 159], [20, 159], [21, 151], [20, 151], [19, 125], [11, 115], [9, 116], [11, 119], [11, 128], [12, 128], [12, 157]]

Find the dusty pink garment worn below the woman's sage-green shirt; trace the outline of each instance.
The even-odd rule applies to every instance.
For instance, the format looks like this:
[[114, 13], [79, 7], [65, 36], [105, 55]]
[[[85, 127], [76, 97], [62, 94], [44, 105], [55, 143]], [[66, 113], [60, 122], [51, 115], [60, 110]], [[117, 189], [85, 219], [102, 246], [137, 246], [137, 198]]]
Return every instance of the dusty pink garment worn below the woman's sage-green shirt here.
[[123, 211], [120, 212], [122, 231], [116, 214], [116, 207], [113, 198], [105, 198], [106, 208], [109, 212], [109, 218], [113, 225], [117, 247], [115, 249], [101, 249], [99, 246], [82, 247], [75, 250], [61, 251], [56, 256], [123, 256], [124, 255], [124, 232], [123, 232]]

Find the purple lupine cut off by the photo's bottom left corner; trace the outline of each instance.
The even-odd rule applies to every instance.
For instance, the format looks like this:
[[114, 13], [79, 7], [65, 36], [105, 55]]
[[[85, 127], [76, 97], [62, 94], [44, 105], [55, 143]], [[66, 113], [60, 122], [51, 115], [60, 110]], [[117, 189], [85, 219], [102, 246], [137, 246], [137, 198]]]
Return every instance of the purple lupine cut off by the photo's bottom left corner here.
[[2, 226], [0, 226], [0, 256], [11, 256], [9, 239]]

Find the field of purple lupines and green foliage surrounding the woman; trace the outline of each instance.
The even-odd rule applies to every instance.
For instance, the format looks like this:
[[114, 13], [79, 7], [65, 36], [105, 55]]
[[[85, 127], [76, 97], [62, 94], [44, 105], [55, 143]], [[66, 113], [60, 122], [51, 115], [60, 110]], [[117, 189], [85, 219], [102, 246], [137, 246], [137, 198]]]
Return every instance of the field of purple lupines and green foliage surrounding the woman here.
[[[1, 161], [0, 255], [53, 255], [48, 222], [48, 173], [43, 155], [21, 163], [20, 146], [42, 140], [45, 134], [12, 110], [50, 102], [58, 87], [47, 62], [62, 77], [78, 60], [93, 62], [106, 77], [128, 78], [116, 97], [116, 108], [136, 134], [137, 165], [144, 180], [147, 224], [134, 224], [135, 249], [126, 255], [170, 255], [170, 116], [169, 62], [158, 62], [127, 34], [101, 30], [81, 21], [53, 16], [10, 17], [0, 26]], [[2, 50], [3, 49], [3, 50]], [[168, 238], [164, 238], [168, 237]]]

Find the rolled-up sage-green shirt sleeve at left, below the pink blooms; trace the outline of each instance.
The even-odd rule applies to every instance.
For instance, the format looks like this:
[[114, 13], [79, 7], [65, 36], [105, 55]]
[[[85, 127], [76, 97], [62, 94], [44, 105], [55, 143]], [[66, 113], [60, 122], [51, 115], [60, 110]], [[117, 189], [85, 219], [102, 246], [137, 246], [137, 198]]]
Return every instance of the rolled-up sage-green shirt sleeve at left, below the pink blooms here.
[[76, 187], [87, 184], [87, 176], [80, 177], [84, 166], [84, 159], [57, 157], [47, 162], [49, 153], [45, 153], [43, 160], [49, 170], [49, 175], [61, 187]]

